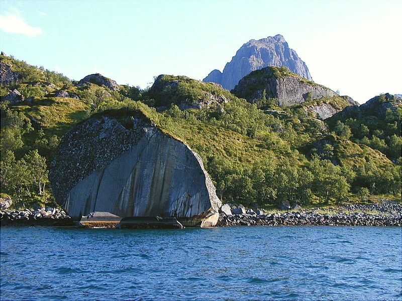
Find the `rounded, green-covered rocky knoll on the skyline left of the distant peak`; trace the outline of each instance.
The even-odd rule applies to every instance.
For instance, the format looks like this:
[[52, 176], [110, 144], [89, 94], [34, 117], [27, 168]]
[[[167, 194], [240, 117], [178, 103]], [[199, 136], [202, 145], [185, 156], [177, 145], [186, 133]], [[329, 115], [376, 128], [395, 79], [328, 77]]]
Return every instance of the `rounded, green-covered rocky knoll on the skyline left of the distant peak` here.
[[204, 108], [228, 102], [233, 97], [216, 83], [205, 83], [186, 76], [159, 75], [149, 90], [156, 106], [176, 104], [180, 109]]

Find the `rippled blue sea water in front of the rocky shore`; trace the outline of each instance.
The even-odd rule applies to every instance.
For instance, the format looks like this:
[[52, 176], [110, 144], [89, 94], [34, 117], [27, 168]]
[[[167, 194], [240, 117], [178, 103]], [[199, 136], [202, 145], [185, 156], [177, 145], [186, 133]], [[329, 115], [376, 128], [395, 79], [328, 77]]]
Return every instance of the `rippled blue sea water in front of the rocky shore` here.
[[399, 227], [2, 227], [0, 298], [401, 300]]

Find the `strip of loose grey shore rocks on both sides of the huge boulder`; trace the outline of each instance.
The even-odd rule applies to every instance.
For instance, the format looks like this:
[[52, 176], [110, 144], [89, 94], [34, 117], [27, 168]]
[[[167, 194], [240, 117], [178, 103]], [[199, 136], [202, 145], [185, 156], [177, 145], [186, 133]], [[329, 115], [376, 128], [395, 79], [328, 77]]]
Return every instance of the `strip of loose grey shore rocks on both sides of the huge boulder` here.
[[[265, 213], [243, 206], [224, 205], [215, 227], [228, 226], [402, 226], [402, 204], [383, 202]], [[330, 214], [331, 213], [331, 214]], [[2, 226], [77, 226], [57, 208], [0, 210]]]

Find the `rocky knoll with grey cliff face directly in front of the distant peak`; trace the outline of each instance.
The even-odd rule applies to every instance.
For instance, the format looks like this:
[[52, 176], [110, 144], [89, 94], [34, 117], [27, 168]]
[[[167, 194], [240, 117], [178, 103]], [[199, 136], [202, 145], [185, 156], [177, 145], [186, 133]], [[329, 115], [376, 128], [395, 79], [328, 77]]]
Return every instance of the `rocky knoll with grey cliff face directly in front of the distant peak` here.
[[232, 93], [253, 103], [256, 99], [276, 98], [281, 107], [337, 96], [331, 89], [308, 81], [287, 68], [265, 67], [242, 78]]

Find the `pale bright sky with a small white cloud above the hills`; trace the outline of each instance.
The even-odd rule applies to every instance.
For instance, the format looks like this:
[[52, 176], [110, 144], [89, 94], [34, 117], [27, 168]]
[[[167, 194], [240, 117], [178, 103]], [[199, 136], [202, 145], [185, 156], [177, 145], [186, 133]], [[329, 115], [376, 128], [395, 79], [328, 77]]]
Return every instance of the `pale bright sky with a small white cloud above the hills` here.
[[0, 50], [79, 80], [202, 80], [251, 39], [281, 34], [313, 80], [364, 103], [402, 93], [401, 0], [0, 0]]

